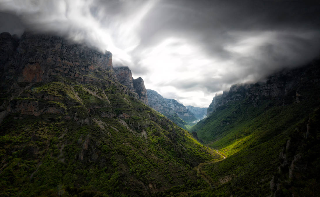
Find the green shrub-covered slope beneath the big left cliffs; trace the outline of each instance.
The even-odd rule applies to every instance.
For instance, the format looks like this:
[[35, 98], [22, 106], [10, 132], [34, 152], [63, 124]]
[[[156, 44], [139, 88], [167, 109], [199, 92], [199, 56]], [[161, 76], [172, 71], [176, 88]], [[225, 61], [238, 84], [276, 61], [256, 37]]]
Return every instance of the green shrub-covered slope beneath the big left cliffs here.
[[121, 84], [102, 87], [60, 78], [34, 84], [13, 99], [36, 100], [64, 113], [11, 113], [4, 119], [2, 196], [166, 196], [207, 187], [193, 167], [219, 155], [122, 93]]

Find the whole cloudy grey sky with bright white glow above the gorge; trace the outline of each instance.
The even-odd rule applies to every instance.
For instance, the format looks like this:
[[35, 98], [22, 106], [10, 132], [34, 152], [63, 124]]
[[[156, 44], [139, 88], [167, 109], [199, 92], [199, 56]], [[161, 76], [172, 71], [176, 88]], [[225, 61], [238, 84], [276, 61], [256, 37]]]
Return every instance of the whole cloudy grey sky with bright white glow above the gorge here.
[[320, 54], [319, 1], [0, 0], [0, 32], [26, 28], [108, 50], [185, 106]]

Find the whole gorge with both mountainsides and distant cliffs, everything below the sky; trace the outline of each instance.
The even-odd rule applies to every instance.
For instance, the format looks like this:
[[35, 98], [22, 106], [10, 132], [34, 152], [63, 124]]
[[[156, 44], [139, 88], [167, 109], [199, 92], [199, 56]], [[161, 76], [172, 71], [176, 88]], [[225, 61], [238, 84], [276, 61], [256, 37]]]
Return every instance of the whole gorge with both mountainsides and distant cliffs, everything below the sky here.
[[[317, 196], [319, 59], [208, 108], [53, 34], [0, 34], [1, 196]], [[187, 131], [188, 129], [189, 131]]]

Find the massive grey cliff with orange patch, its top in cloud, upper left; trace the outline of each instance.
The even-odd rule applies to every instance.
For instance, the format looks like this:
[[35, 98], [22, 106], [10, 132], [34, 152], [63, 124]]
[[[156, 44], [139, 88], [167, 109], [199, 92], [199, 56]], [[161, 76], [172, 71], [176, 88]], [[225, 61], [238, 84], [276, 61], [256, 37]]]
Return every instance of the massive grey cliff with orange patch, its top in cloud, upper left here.
[[1, 54], [6, 79], [17, 77], [18, 82], [46, 83], [57, 77], [68, 77], [88, 83], [99, 81], [101, 76], [97, 71], [100, 71], [100, 75], [115, 80], [109, 51], [100, 53], [53, 35], [24, 33], [17, 44], [7, 33], [1, 37], [5, 37]]

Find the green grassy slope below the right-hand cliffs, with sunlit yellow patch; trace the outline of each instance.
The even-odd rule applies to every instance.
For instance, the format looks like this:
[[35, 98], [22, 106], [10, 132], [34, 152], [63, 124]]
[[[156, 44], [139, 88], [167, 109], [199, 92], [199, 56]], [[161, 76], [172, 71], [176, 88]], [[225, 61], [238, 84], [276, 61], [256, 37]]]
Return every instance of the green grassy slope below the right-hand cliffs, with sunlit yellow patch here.
[[[217, 186], [214, 194], [271, 194], [269, 181], [277, 171], [281, 149], [289, 136], [295, 135], [295, 127], [306, 122], [320, 106], [319, 87], [306, 89], [309, 91], [302, 93], [300, 103], [293, 103], [292, 99], [291, 104], [282, 106], [277, 100], [265, 100], [253, 107], [238, 101], [218, 108], [191, 128], [210, 147], [227, 156], [221, 162], [203, 167]], [[221, 184], [221, 178], [228, 176], [232, 180]]]

